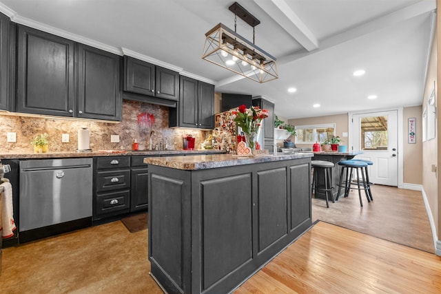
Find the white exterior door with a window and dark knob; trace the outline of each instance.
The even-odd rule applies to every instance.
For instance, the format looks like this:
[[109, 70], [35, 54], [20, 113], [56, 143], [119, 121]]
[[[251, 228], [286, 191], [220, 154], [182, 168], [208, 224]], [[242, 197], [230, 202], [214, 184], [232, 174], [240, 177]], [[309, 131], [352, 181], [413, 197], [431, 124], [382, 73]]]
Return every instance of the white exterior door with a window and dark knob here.
[[354, 159], [371, 160], [369, 180], [398, 186], [397, 111], [371, 112], [352, 116], [352, 151], [363, 154]]

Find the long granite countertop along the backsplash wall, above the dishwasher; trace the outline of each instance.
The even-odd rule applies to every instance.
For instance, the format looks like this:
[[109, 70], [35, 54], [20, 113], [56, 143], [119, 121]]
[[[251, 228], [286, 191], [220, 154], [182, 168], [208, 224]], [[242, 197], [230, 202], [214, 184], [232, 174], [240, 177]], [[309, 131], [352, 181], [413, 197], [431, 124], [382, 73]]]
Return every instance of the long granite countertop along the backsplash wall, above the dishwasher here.
[[125, 150], [97, 150], [92, 152], [76, 152], [76, 151], [66, 151], [66, 152], [48, 152], [48, 153], [17, 153], [8, 152], [1, 153], [0, 159], [42, 159], [42, 158], [78, 158], [78, 157], [94, 157], [94, 156], [167, 156], [174, 154], [191, 155], [191, 154], [210, 154], [223, 152], [221, 150], [214, 149], [200, 149], [200, 150], [139, 150], [139, 151], [125, 151]]

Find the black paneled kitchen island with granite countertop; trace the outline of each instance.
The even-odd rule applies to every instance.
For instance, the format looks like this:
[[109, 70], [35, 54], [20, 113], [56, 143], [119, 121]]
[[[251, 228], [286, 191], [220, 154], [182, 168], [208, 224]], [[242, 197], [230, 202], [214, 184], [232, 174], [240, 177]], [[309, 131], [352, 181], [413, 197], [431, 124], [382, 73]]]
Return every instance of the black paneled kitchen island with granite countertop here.
[[311, 227], [312, 153], [145, 158], [151, 275], [229, 293]]

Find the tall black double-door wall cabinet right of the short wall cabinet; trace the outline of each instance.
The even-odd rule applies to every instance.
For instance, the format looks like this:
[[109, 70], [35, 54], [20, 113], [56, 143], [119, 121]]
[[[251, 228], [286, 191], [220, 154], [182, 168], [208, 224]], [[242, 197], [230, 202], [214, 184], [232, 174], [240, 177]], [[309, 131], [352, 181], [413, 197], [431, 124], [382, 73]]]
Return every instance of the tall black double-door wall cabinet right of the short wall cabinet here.
[[177, 109], [170, 108], [169, 127], [214, 128], [214, 85], [181, 76]]

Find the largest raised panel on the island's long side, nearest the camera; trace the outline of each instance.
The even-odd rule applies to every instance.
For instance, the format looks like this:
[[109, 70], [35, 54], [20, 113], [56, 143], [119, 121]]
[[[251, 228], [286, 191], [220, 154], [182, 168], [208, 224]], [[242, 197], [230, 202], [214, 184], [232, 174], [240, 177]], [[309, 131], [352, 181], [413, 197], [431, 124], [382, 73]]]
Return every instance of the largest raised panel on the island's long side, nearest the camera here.
[[252, 260], [252, 174], [203, 180], [202, 291]]

